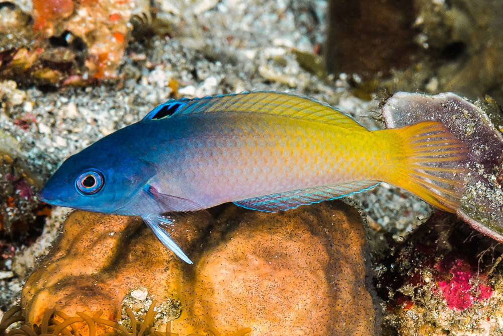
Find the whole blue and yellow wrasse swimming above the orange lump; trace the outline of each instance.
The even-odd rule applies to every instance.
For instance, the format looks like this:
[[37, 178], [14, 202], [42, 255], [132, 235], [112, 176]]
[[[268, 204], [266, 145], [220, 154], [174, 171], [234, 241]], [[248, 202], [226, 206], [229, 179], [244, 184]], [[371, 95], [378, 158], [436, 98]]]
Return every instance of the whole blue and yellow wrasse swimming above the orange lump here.
[[438, 122], [369, 131], [310, 99], [242, 93], [157, 106], [66, 159], [39, 195], [54, 205], [141, 216], [192, 264], [163, 213], [224, 202], [276, 212], [380, 182], [455, 212], [465, 154]]

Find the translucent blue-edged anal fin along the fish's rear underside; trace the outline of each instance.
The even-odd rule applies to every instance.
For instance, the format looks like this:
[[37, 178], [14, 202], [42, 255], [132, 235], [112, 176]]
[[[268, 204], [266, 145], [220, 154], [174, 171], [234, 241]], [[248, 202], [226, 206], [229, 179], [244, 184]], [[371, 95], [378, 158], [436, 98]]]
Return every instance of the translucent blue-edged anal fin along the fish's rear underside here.
[[365, 180], [330, 184], [248, 198], [235, 201], [234, 204], [246, 209], [278, 212], [279, 210], [293, 209], [300, 205], [350, 196], [374, 188], [379, 183], [379, 181]]

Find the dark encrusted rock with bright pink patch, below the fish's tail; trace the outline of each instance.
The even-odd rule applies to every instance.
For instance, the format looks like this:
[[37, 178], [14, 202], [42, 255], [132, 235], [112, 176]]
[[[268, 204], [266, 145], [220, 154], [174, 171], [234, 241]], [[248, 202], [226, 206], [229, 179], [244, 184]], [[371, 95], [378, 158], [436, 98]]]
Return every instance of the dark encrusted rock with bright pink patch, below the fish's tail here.
[[503, 332], [500, 249], [471, 231], [437, 212], [380, 263], [385, 334]]

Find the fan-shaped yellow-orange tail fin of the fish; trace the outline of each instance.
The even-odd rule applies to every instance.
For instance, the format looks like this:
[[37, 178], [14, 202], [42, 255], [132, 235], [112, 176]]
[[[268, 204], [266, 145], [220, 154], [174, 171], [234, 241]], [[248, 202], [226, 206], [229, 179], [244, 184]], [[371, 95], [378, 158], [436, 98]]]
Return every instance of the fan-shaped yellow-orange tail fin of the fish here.
[[434, 121], [382, 132], [396, 144], [388, 182], [437, 208], [455, 212], [465, 191], [466, 146]]

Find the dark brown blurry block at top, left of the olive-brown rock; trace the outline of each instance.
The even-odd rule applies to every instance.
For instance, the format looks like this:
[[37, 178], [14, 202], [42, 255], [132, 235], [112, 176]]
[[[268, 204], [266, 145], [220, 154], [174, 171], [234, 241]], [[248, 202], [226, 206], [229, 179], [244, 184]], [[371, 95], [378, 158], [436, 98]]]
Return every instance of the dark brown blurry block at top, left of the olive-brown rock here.
[[[414, 2], [331, 0], [326, 65], [332, 73], [365, 79], [389, 75], [412, 64], [421, 49], [414, 42]], [[421, 55], [421, 53], [419, 53]]]

